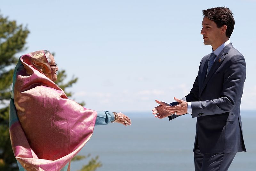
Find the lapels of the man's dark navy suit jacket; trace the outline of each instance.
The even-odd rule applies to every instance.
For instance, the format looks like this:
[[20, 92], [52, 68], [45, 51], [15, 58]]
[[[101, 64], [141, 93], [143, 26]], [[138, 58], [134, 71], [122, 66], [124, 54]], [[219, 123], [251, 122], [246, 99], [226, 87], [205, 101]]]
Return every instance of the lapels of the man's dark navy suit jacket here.
[[223, 48], [223, 50], [220, 52], [220, 54], [217, 56], [216, 60], [214, 61], [213, 65], [212, 65], [212, 68], [209, 71], [207, 77], [205, 78], [207, 67], [208, 67], [208, 61], [209, 61], [209, 58], [210, 58], [210, 55], [208, 56], [208, 59], [206, 60], [206, 63], [205, 63], [204, 68], [203, 68], [202, 77], [204, 77], [203, 78], [204, 81], [203, 81], [202, 87], [200, 89], [201, 91], [199, 93], [199, 97], [201, 96], [205, 86], [207, 85], [207, 83], [211, 79], [212, 75], [215, 73], [215, 71], [220, 67], [221, 63], [224, 61], [225, 55], [228, 54], [228, 51], [232, 47], [233, 47], [232, 44], [229, 43], [225, 48]]

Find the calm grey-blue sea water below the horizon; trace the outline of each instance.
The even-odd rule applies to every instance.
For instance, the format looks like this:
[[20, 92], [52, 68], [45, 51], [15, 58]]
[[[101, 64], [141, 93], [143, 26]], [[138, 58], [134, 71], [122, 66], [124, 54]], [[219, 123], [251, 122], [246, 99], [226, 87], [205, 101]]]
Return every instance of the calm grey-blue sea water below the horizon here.
[[[79, 155], [99, 156], [97, 171], [193, 171], [196, 118], [181, 116], [172, 121], [151, 113], [125, 113], [132, 126], [110, 123], [96, 126]], [[256, 112], [241, 113], [247, 152], [236, 154], [229, 171], [256, 170]], [[76, 171], [87, 159], [71, 162]]]

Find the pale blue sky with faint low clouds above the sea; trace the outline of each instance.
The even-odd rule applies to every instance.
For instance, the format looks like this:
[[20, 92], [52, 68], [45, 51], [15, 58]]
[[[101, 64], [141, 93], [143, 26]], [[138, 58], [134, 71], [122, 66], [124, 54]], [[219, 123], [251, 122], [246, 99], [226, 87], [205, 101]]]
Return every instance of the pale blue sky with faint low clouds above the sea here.
[[0, 12], [27, 25], [22, 54], [48, 49], [68, 78], [79, 78], [69, 89], [76, 101], [99, 111], [150, 112], [155, 99], [189, 93], [211, 52], [200, 34], [202, 10], [216, 6], [234, 13], [230, 40], [247, 63], [241, 108], [255, 110], [256, 0], [5, 0]]

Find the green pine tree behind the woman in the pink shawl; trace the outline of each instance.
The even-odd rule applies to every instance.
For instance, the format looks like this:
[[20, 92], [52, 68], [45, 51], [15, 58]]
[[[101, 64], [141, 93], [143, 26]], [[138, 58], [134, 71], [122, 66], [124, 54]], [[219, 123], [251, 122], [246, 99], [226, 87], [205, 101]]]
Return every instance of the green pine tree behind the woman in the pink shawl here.
[[[11, 99], [10, 91], [12, 89], [12, 75], [14, 67], [18, 61], [17, 53], [26, 50], [26, 38], [28, 28], [17, 25], [16, 21], [9, 20], [0, 14], [0, 170], [17, 171], [18, 165], [14, 157], [9, 136], [9, 104]], [[65, 70], [58, 72], [58, 81], [56, 82], [63, 91], [76, 83], [78, 78], [72, 78], [67, 83], [64, 79], [67, 77]], [[65, 92], [68, 97], [72, 92]], [[84, 105], [84, 102], [81, 103]], [[88, 156], [77, 156], [74, 160], [81, 160]], [[98, 156], [89, 160], [87, 165], [80, 171], [94, 171], [100, 167]], [[85, 168], [85, 169], [84, 169]]]

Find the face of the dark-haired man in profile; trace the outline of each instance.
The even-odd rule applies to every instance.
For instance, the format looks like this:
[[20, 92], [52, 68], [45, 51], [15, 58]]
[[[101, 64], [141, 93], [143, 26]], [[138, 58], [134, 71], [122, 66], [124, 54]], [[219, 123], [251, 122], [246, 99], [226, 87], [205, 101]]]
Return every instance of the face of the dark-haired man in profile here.
[[221, 28], [218, 28], [216, 23], [204, 16], [202, 21], [201, 34], [203, 35], [204, 44], [211, 45], [213, 50], [218, 48], [222, 43]]

